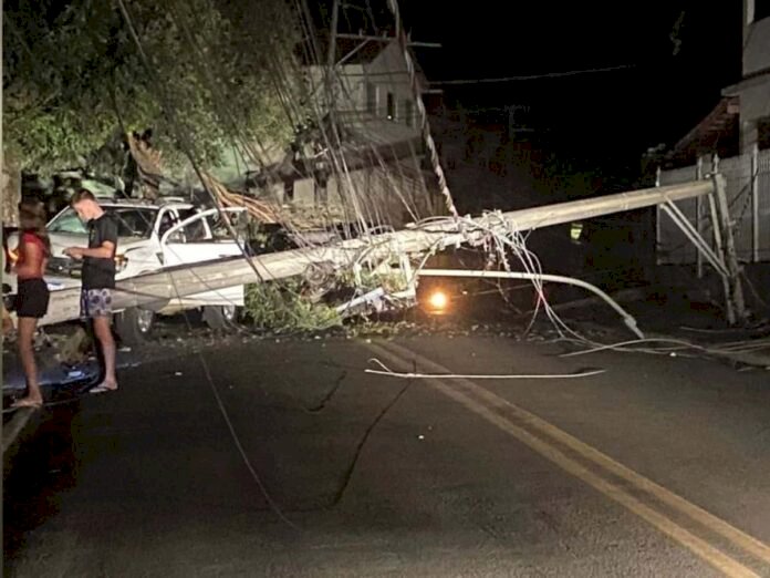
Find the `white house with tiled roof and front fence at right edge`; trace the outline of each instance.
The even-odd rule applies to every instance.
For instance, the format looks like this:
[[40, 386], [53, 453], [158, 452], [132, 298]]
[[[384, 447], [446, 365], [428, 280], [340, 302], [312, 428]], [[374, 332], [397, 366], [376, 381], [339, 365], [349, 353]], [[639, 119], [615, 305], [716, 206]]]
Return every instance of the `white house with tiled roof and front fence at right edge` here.
[[[722, 90], [722, 100], [667, 153], [660, 185], [704, 178], [726, 179], [735, 250], [746, 265], [761, 264], [757, 287], [767, 287], [770, 262], [770, 0], [743, 0], [742, 80]], [[709, 237], [709, 205], [678, 203], [694, 227]], [[658, 216], [658, 262], [697, 264], [703, 257], [667, 218]]]

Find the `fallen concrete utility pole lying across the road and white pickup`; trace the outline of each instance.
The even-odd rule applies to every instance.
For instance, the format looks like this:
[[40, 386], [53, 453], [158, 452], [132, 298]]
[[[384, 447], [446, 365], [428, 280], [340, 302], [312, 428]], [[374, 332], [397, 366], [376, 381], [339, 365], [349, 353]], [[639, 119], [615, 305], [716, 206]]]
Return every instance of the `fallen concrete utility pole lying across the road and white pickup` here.
[[[294, 277], [303, 275], [309, 267], [314, 265], [332, 264], [337, 267], [344, 267], [361, 260], [364, 255], [367, 259], [377, 260], [385, 259], [388, 255], [394, 254], [424, 254], [472, 242], [480, 239], [486, 234], [485, 231], [489, 230], [498, 230], [501, 234], [510, 233], [511, 230], [527, 231], [660, 204], [674, 204], [678, 200], [696, 198], [703, 195], [716, 195], [720, 186], [724, 186], [724, 177], [715, 175], [708, 180], [645, 188], [509, 213], [497, 213], [467, 220], [446, 217], [425, 227], [414, 226], [405, 230], [350, 239], [330, 246], [294, 249], [261, 255], [249, 259], [237, 257], [207, 261], [195, 266], [169, 268], [162, 272], [143, 275], [119, 281], [113, 306], [116, 310], [132, 307], [159, 309], [165, 302], [179, 296]], [[719, 207], [721, 204], [717, 203], [715, 205]], [[677, 224], [684, 227], [683, 224], [678, 221]], [[472, 225], [478, 225], [478, 227]], [[722, 235], [725, 233], [722, 230]], [[729, 230], [727, 233], [729, 234]], [[690, 236], [691, 230], [687, 229], [686, 234]], [[699, 239], [699, 241], [696, 242], [696, 247], [699, 250], [710, 250], [708, 242], [704, 239]], [[737, 270], [736, 264], [727, 262], [727, 259], [732, 258], [733, 255], [732, 251], [724, 251], [724, 255], [711, 254], [709, 258], [716, 259], [720, 265], [720, 275], [728, 277], [730, 272]], [[738, 314], [742, 317], [742, 298], [736, 299], [736, 296], [741, 295], [740, 281], [737, 276], [726, 279], [726, 293], [728, 311], [735, 311], [736, 303], [738, 303]], [[41, 320], [41, 324], [53, 324], [77, 319], [79, 312], [79, 289], [52, 291], [49, 314]], [[732, 313], [730, 313], [730, 318], [732, 322], [735, 320]]]

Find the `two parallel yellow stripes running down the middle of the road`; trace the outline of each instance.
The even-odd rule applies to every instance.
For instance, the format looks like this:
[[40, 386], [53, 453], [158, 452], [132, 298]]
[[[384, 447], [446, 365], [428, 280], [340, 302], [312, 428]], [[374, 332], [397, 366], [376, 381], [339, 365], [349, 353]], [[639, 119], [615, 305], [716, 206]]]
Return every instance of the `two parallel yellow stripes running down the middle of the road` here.
[[[408, 361], [408, 358], [416, 359], [417, 361], [420, 362], [423, 365], [428, 365], [433, 367], [431, 371], [438, 371], [438, 372], [444, 372], [444, 373], [450, 373], [449, 370], [446, 368], [441, 367], [440, 364], [424, 358], [423, 355], [419, 355], [415, 352], [408, 351], [399, 345], [396, 345], [395, 343], [387, 343], [383, 344], [383, 347], [374, 345], [374, 344], [368, 344], [367, 345], [370, 349], [375, 351], [377, 354], [385, 357], [389, 359], [392, 362], [395, 362], [399, 365], [403, 365], [404, 368], [409, 368], [410, 363]], [[383, 349], [384, 347], [388, 348]], [[405, 359], [406, 358], [406, 359]], [[717, 518], [716, 516], [703, 510], [701, 508], [698, 508], [697, 506], [690, 504], [689, 502], [685, 500], [684, 498], [676, 496], [675, 494], [670, 493], [669, 491], [663, 488], [662, 486], [646, 479], [644, 476], [636, 474], [632, 469], [627, 468], [626, 466], [623, 466], [618, 464], [617, 462], [614, 462], [612, 458], [608, 456], [605, 456], [601, 452], [592, 448], [591, 446], [584, 444], [583, 442], [578, 441], [576, 438], [572, 437], [571, 435], [566, 434], [565, 432], [562, 432], [561, 430], [556, 429], [555, 426], [552, 426], [551, 424], [548, 424], [548, 422], [544, 422], [543, 420], [534, 416], [533, 414], [530, 414], [529, 412], [521, 410], [520, 407], [513, 405], [512, 403], [495, 395], [493, 393], [489, 392], [488, 390], [468, 381], [468, 380], [452, 380], [452, 383], [461, 383], [464, 388], [470, 389], [472, 393], [480, 395], [483, 398], [483, 400], [488, 403], [491, 403], [493, 407], [500, 407], [504, 405], [507, 410], [514, 410], [514, 415], [519, 419], [522, 419], [522, 416], [526, 416], [527, 419], [522, 419], [522, 421], [527, 422], [528, 425], [532, 425], [538, 430], [545, 431], [549, 435], [554, 437], [556, 441], [560, 441], [578, 452], [579, 454], [583, 455], [587, 460], [594, 462], [594, 463], [600, 463], [596, 460], [596, 456], [602, 456], [604, 460], [601, 461], [600, 465], [603, 465], [606, 469], [610, 469], [611, 472], [618, 474], [620, 471], [624, 472], [625, 475], [622, 475], [621, 477], [625, 478], [626, 481], [631, 482], [632, 484], [636, 485], [637, 487], [642, 487], [643, 489], [652, 493], [656, 497], [659, 497], [662, 502], [666, 502], [669, 505], [673, 505], [674, 507], [681, 509], [686, 514], [691, 516], [691, 513], [703, 513], [700, 516], [706, 515], [706, 519], [709, 523], [704, 523], [703, 520], [701, 524], [706, 525], [710, 529], [714, 529], [717, 531], [717, 528], [721, 529], [722, 531], [718, 531], [722, 536], [727, 537], [730, 539], [730, 541], [733, 541], [733, 544], [743, 547], [743, 544], [753, 544], [758, 543], [762, 547], [767, 548], [766, 545], [757, 540], [756, 538], [746, 535], [745, 533], [740, 531], [738, 528], [735, 528], [727, 524], [726, 522]], [[708, 564], [714, 566], [715, 568], [719, 569], [727, 576], [735, 576], [735, 577], [749, 577], [749, 576], [759, 576], [755, 571], [752, 571], [750, 568], [741, 565], [739, 561], [735, 560], [733, 558], [727, 556], [724, 554], [721, 550], [717, 549], [716, 547], [711, 546], [710, 544], [706, 543], [704, 539], [695, 536], [687, 529], [683, 528], [678, 524], [676, 524], [674, 520], [668, 518], [667, 516], [656, 512], [655, 509], [651, 508], [649, 506], [645, 505], [642, 503], [639, 499], [636, 497], [632, 496], [617, 485], [602, 478], [600, 475], [594, 474], [593, 472], [586, 469], [584, 466], [582, 466], [580, 463], [570, 458], [565, 454], [563, 454], [561, 451], [559, 451], [556, 447], [551, 445], [550, 443], [535, 437], [533, 434], [528, 432], [527, 430], [514, 425], [511, 423], [509, 420], [506, 417], [499, 415], [498, 413], [491, 411], [488, 406], [481, 404], [479, 401], [470, 398], [467, 393], [464, 393], [461, 391], [458, 391], [456, 386], [449, 385], [448, 383], [443, 382], [440, 379], [436, 380], [428, 380], [428, 383], [430, 383], [434, 388], [438, 389], [441, 393], [450, 396], [451, 399], [456, 400], [460, 404], [462, 404], [468, 410], [481, 415], [483, 419], [489, 421], [490, 423], [497, 425], [501, 430], [506, 431], [507, 433], [513, 435], [517, 440], [520, 442], [524, 443], [527, 446], [531, 447], [539, 454], [543, 455], [554, 464], [559, 465], [562, 469], [569, 472], [570, 474], [574, 475], [575, 477], [580, 478], [581, 481], [585, 482], [590, 486], [594, 487], [605, 496], [610, 497], [611, 499], [614, 499], [615, 502], [622, 504], [624, 507], [628, 508], [631, 512], [656, 527], [658, 530], [664, 533], [665, 535], [669, 536], [674, 540], [678, 541], [683, 546], [689, 548], [693, 553], [696, 555], [700, 556], [704, 560], [706, 560]], [[480, 390], [480, 391], [479, 391]], [[543, 427], [543, 425], [548, 425], [548, 429]], [[572, 440], [572, 443], [566, 443], [563, 438], [570, 438]], [[585, 450], [591, 450], [591, 452], [586, 452]], [[611, 464], [611, 466], [605, 465], [606, 463]], [[617, 469], [617, 471], [616, 471]], [[645, 484], [641, 485], [638, 482], [644, 481], [646, 482]], [[667, 496], [668, 499], [663, 499], [659, 494], [668, 494]], [[676, 499], [672, 499], [676, 498]], [[696, 518], [697, 519], [697, 518]], [[714, 522], [717, 522], [718, 524], [714, 524]], [[731, 531], [728, 533], [728, 535], [725, 534], [725, 529], [730, 529]], [[735, 539], [738, 538], [739, 543], [736, 543]], [[749, 550], [751, 551], [751, 550]], [[753, 551], [752, 551], [753, 554]], [[763, 556], [758, 556], [762, 559]]]

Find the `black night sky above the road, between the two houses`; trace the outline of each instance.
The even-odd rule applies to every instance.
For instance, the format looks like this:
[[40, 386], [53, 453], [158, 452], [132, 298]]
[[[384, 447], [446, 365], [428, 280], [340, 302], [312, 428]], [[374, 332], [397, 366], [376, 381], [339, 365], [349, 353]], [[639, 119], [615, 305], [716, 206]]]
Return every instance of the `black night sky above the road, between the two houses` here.
[[529, 104], [600, 155], [638, 158], [648, 146], [673, 144], [740, 79], [740, 0], [475, 0], [454, 9], [402, 0], [400, 8], [413, 40], [443, 44], [417, 52], [431, 81], [631, 66], [441, 86], [469, 107]]

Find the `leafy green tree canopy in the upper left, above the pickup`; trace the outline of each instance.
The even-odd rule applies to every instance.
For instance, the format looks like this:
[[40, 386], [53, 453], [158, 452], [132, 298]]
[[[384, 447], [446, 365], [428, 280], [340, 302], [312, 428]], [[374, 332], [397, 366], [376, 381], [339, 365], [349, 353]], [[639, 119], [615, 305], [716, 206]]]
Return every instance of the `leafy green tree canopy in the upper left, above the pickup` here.
[[236, 134], [288, 142], [273, 83], [292, 70], [293, 13], [283, 0], [233, 4], [126, 0], [132, 30], [113, 0], [4, 2], [7, 154], [43, 172], [110, 162], [105, 145], [152, 127], [171, 166], [180, 145], [211, 166]]

